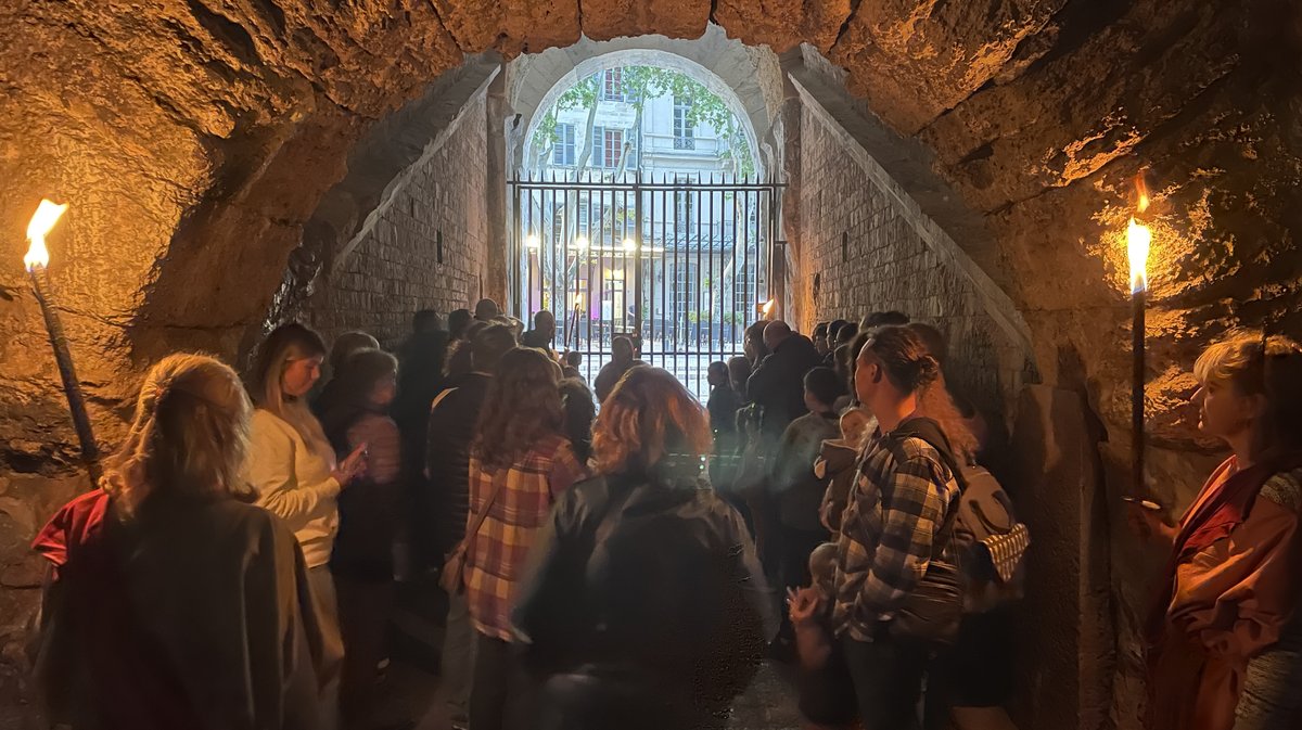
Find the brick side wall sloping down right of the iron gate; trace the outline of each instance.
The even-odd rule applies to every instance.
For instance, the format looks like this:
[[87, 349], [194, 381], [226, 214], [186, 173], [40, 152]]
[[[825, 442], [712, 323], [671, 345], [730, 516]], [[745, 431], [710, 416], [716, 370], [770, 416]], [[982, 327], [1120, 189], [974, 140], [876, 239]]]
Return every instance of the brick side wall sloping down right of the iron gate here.
[[[950, 342], [947, 376], [1003, 420], [1026, 353], [987, 311], [974, 282], [927, 236], [934, 225], [866, 169], [846, 139], [801, 109], [799, 273], [802, 325], [897, 310], [935, 324]], [[871, 163], [867, 163], [871, 164]]]

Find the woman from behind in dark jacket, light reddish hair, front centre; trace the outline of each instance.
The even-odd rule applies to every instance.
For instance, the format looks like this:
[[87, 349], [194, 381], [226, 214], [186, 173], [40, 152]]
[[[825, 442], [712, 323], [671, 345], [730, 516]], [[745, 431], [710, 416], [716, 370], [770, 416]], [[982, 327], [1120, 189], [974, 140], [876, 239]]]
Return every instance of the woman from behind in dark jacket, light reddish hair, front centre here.
[[514, 613], [539, 730], [721, 727], [772, 622], [741, 517], [702, 479], [704, 409], [639, 366], [602, 405], [600, 476], [560, 497]]

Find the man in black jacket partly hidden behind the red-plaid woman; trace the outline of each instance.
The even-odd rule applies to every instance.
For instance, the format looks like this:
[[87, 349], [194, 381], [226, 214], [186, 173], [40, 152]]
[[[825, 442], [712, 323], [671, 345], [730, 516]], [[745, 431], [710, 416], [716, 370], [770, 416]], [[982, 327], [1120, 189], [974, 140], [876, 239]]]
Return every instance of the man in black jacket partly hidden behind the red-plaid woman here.
[[[426, 549], [430, 567], [443, 565], [444, 556], [465, 537], [470, 513], [470, 445], [475, 436], [479, 410], [488, 396], [492, 371], [516, 336], [504, 324], [492, 324], [475, 333], [470, 341], [473, 371], [448, 383], [430, 409], [426, 445], [426, 476], [431, 494], [428, 510], [421, 515], [426, 531], [435, 537]], [[470, 701], [470, 678], [474, 677], [474, 629], [466, 599], [448, 597], [448, 623], [443, 642], [443, 682], [453, 720], [465, 717]]]

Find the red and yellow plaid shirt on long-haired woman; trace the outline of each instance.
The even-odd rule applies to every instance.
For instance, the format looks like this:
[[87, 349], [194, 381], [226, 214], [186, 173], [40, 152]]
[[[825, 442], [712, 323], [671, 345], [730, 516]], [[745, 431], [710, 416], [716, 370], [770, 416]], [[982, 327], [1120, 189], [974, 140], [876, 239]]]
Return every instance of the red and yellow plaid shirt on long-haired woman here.
[[570, 442], [549, 436], [509, 468], [484, 470], [470, 457], [467, 530], [493, 488], [501, 484], [479, 532], [466, 550], [466, 602], [475, 630], [509, 642], [510, 609], [525, 558], [547, 520], [556, 496], [587, 476]]

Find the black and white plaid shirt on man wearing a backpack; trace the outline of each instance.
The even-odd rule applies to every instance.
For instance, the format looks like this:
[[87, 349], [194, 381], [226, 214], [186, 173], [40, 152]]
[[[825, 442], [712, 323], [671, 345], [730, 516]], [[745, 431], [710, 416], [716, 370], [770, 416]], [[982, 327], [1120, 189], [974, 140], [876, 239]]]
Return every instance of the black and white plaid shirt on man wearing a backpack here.
[[859, 461], [837, 543], [832, 621], [838, 634], [861, 642], [872, 639], [927, 573], [936, 532], [958, 496], [931, 444], [888, 439], [872, 439]]

